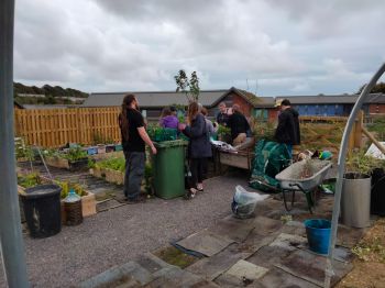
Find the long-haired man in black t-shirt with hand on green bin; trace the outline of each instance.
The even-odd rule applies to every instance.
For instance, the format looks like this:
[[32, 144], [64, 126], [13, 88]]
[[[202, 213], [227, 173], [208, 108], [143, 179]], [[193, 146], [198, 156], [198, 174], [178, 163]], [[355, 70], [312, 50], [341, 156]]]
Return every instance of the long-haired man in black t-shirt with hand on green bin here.
[[140, 195], [145, 165], [145, 144], [151, 147], [153, 154], [156, 154], [156, 148], [145, 131], [134, 95], [127, 95], [123, 99], [119, 126], [125, 157], [124, 195], [129, 202], [135, 203], [143, 200]]

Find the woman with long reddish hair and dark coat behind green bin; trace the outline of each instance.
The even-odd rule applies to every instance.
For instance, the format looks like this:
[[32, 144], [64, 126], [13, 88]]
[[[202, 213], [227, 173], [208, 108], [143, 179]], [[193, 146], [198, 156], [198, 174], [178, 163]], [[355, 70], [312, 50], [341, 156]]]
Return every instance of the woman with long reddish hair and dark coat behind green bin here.
[[182, 126], [183, 133], [189, 137], [188, 157], [191, 171], [191, 182], [187, 199], [195, 197], [197, 191], [204, 191], [204, 174], [207, 158], [211, 157], [211, 143], [205, 117], [199, 112], [199, 104], [191, 102], [188, 106], [188, 125]]

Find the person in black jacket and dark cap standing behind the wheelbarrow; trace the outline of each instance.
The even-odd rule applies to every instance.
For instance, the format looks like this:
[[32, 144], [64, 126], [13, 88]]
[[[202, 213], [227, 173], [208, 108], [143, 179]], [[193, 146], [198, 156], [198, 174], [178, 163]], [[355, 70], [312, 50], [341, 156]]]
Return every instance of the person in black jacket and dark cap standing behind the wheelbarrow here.
[[293, 145], [300, 144], [299, 113], [292, 108], [289, 100], [280, 102], [280, 113], [278, 117], [278, 126], [275, 131], [275, 139], [278, 143], [286, 144], [292, 155]]

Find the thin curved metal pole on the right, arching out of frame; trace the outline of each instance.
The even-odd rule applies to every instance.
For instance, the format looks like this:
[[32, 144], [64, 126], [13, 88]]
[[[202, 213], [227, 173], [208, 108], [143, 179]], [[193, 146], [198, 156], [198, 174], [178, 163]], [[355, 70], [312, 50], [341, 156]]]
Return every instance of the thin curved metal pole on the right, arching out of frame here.
[[348, 142], [349, 142], [349, 135], [352, 132], [352, 126], [354, 124], [355, 118], [358, 117], [360, 109], [366, 98], [366, 96], [372, 91], [373, 87], [380, 79], [380, 77], [385, 71], [385, 63], [380, 67], [378, 71], [373, 76], [371, 81], [365, 86], [365, 88], [362, 90], [359, 99], [356, 100], [353, 110], [348, 119], [348, 123], [345, 125], [345, 130], [343, 131], [341, 146], [340, 146], [340, 154], [338, 157], [338, 173], [337, 173], [337, 182], [336, 182], [336, 193], [334, 193], [334, 203], [333, 203], [333, 215], [331, 220], [331, 236], [329, 241], [329, 254], [327, 258], [327, 267], [326, 267], [326, 276], [324, 276], [324, 284], [323, 287], [329, 288], [330, 287], [330, 279], [333, 276], [333, 266], [332, 266], [332, 259], [333, 259], [333, 253], [337, 242], [337, 229], [338, 229], [338, 219], [340, 215], [340, 202], [341, 202], [341, 192], [342, 192], [342, 181], [343, 181], [343, 174], [345, 170], [345, 162], [346, 162], [346, 148], [348, 148]]

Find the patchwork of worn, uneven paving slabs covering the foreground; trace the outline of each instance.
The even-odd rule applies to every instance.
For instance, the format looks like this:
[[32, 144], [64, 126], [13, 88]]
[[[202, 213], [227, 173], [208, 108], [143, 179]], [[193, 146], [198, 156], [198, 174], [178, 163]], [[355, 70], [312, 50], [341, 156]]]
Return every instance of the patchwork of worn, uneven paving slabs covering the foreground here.
[[[147, 253], [142, 255], [147, 261], [139, 263], [156, 263], [155, 269], [154, 265], [130, 262], [79, 287], [322, 287], [326, 256], [309, 250], [301, 220], [330, 215], [331, 200], [332, 196], [321, 196], [310, 215], [302, 196], [297, 197], [289, 213], [283, 209], [279, 196], [271, 197], [256, 207], [251, 219], [239, 220], [229, 214], [179, 241], [177, 244], [184, 248], [206, 255], [185, 269]], [[293, 220], [282, 221], [288, 214]], [[346, 226], [340, 230], [332, 285], [352, 269], [350, 247], [364, 233]], [[131, 270], [122, 272], [125, 266]]]

